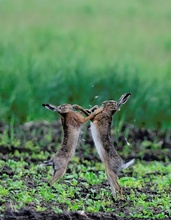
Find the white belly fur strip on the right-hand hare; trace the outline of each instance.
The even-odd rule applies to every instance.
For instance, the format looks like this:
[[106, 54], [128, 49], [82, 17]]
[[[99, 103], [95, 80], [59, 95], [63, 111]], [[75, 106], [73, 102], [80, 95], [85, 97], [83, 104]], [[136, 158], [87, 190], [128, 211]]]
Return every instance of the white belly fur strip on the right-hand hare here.
[[97, 124], [95, 122], [91, 122], [91, 133], [93, 136], [93, 141], [95, 143], [97, 152], [98, 152], [101, 160], [103, 161], [103, 154], [102, 154], [103, 144], [102, 144], [102, 141], [101, 141], [98, 129], [97, 129]]

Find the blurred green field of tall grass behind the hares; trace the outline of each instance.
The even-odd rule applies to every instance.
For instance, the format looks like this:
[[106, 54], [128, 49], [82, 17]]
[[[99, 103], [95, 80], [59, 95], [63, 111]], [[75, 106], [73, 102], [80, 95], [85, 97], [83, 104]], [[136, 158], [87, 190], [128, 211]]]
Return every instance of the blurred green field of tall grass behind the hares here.
[[170, 128], [170, 27], [170, 0], [0, 0], [0, 121], [130, 92], [116, 123]]

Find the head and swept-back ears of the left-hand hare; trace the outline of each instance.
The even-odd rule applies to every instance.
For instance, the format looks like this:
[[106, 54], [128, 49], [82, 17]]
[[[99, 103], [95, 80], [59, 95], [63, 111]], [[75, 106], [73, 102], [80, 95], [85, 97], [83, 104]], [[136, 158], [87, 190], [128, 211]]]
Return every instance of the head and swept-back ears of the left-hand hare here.
[[43, 107], [45, 107], [51, 111], [58, 112], [60, 114], [65, 114], [65, 113], [72, 111], [72, 105], [70, 105], [70, 104], [62, 104], [59, 106], [55, 106], [55, 105], [51, 105], [51, 104], [42, 104], [42, 105], [43, 105]]

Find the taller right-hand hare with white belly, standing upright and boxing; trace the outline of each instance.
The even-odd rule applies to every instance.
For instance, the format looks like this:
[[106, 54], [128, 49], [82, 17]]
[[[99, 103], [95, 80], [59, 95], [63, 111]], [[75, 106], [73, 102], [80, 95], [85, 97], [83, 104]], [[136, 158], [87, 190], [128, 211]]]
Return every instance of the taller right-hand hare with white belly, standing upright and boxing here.
[[95, 109], [102, 110], [101, 113], [91, 119], [91, 133], [98, 154], [105, 165], [105, 171], [109, 184], [112, 188], [112, 193], [115, 195], [117, 190], [121, 199], [124, 198], [122, 187], [118, 183], [118, 172], [119, 170], [127, 168], [133, 164], [134, 159], [128, 163], [124, 163], [117, 153], [111, 140], [111, 123], [113, 114], [119, 110], [122, 104], [127, 102], [130, 96], [130, 93], [123, 94], [118, 102], [114, 100], [104, 101], [100, 108], [98, 106], [94, 106], [89, 110], [85, 110], [78, 105], [73, 106], [74, 109], [82, 111], [87, 116]]

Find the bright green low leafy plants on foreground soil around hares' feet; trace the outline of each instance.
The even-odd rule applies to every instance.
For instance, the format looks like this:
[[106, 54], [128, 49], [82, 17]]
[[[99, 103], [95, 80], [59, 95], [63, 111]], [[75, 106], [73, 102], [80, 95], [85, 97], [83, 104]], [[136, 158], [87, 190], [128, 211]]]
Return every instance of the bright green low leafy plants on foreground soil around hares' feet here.
[[[3, 166], [11, 168], [14, 175], [9, 177], [7, 174], [3, 174], [1, 176], [1, 212], [4, 211], [7, 203], [13, 210], [25, 206], [34, 206], [37, 211], [45, 211], [47, 210], [47, 203], [50, 202], [50, 209], [56, 213], [63, 211], [60, 208], [62, 205], [67, 211], [104, 211], [115, 212], [118, 216], [123, 215], [123, 213], [117, 212], [113, 204], [110, 188], [102, 188], [100, 185], [106, 181], [104, 167], [101, 164], [91, 162], [89, 169], [94, 169], [94, 171], [90, 171], [87, 166], [75, 166], [74, 163], [70, 163], [69, 169], [72, 169], [72, 173], [66, 174], [54, 184], [53, 188], [49, 187], [46, 181], [51, 178], [50, 169], [40, 170], [35, 164], [14, 160], [0, 161], [1, 169]], [[29, 169], [26, 168], [28, 166]], [[97, 170], [96, 166], [101, 167], [101, 169]], [[85, 169], [86, 171], [84, 171]], [[130, 210], [129, 217], [155, 217], [158, 219], [169, 217], [171, 214], [169, 193], [171, 166], [163, 165], [161, 162], [147, 164], [139, 161], [132, 169], [132, 176], [129, 176], [128, 170], [124, 171], [124, 177], [120, 178], [120, 184], [129, 192], [126, 196], [126, 203], [128, 204], [125, 204]], [[158, 172], [160, 174], [157, 174]], [[36, 183], [36, 187], [30, 187], [28, 183], [30, 178], [32, 184]], [[78, 181], [80, 179], [82, 181]], [[95, 182], [95, 180], [97, 181]], [[82, 188], [87, 191], [85, 196], [81, 195]], [[146, 189], [146, 192], [142, 193], [142, 189]], [[160, 210], [157, 216], [154, 215], [156, 208]]]

